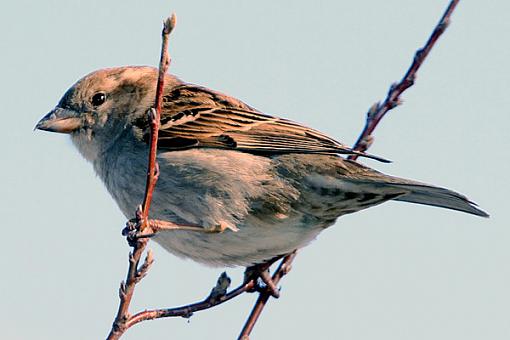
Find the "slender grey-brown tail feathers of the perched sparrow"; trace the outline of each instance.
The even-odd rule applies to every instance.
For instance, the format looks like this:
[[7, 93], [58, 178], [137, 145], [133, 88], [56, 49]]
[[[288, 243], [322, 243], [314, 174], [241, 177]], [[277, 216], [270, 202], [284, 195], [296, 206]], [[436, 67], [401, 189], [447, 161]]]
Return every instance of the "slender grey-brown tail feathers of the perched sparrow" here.
[[464, 195], [448, 189], [433, 187], [426, 184], [388, 184], [391, 187], [402, 188], [409, 192], [408, 194], [394, 198], [395, 201], [432, 205], [441, 208], [458, 210], [477, 216], [489, 217], [489, 214], [477, 208], [476, 203], [471, 202]]

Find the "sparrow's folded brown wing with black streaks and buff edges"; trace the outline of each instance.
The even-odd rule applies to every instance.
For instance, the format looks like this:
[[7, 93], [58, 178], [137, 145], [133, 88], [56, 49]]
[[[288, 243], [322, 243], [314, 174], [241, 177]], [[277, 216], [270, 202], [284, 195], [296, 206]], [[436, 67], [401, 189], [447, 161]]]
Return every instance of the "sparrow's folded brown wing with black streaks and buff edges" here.
[[182, 85], [164, 97], [158, 148], [199, 147], [265, 154], [359, 154], [319, 131], [263, 114], [237, 99]]

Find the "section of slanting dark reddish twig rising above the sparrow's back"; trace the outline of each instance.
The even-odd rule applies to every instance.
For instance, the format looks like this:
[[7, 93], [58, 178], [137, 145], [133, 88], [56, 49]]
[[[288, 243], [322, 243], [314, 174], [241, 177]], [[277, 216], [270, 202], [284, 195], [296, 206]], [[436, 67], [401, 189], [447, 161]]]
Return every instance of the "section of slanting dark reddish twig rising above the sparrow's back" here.
[[[436, 27], [434, 28], [434, 31], [432, 32], [429, 39], [425, 43], [425, 46], [416, 51], [413, 62], [409, 69], [407, 70], [404, 77], [402, 78], [402, 80], [400, 80], [399, 83], [392, 84], [390, 86], [390, 89], [384, 102], [382, 104], [380, 102], [377, 102], [374, 105], [372, 105], [372, 107], [370, 107], [370, 109], [367, 112], [367, 120], [365, 123], [365, 127], [363, 128], [363, 131], [361, 132], [360, 136], [358, 137], [358, 140], [353, 146], [354, 150], [361, 152], [366, 151], [373, 143], [372, 133], [374, 132], [375, 128], [377, 127], [381, 119], [386, 115], [386, 113], [388, 113], [388, 111], [402, 104], [402, 101], [400, 100], [400, 95], [409, 87], [413, 86], [414, 81], [416, 80], [416, 73], [420, 69], [420, 66], [422, 65], [425, 58], [427, 58], [430, 50], [432, 50], [432, 47], [434, 47], [436, 41], [444, 33], [444, 31], [450, 24], [450, 17], [458, 3], [459, 0], [452, 0], [450, 2], [448, 7], [446, 8], [446, 11], [441, 17], [441, 20], [439, 20]], [[358, 155], [350, 155], [348, 157], [348, 159], [350, 160], [356, 160], [357, 158]]]

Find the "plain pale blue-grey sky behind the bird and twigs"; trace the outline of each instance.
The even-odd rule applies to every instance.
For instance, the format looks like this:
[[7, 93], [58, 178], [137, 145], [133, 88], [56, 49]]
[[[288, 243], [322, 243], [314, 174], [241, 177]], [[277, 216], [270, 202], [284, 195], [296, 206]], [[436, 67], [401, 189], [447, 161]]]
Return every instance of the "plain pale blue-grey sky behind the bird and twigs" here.
[[[67, 136], [33, 132], [83, 75], [157, 65], [352, 144], [446, 0], [10, 1], [0, 6], [2, 339], [100, 339], [117, 309], [125, 222]], [[465, 193], [482, 219], [388, 203], [341, 218], [300, 252], [253, 339], [509, 339], [510, 21], [507, 1], [461, 1], [380, 125], [378, 170]], [[205, 297], [221, 268], [156, 244], [133, 311]], [[229, 269], [235, 282], [241, 269]], [[146, 322], [125, 339], [232, 339], [255, 299]]]

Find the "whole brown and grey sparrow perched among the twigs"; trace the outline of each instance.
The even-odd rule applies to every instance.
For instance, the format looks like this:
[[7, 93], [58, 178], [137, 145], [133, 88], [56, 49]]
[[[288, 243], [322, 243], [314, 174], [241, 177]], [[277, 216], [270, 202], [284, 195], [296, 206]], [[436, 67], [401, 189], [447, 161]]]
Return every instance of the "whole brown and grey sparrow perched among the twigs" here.
[[[128, 218], [144, 196], [147, 110], [157, 76], [151, 67], [93, 72], [36, 126], [69, 134]], [[226, 230], [162, 231], [154, 240], [207, 265], [250, 266], [305, 246], [341, 215], [388, 200], [488, 216], [461, 194], [340, 156], [356, 153], [319, 131], [166, 75], [150, 216]]]

